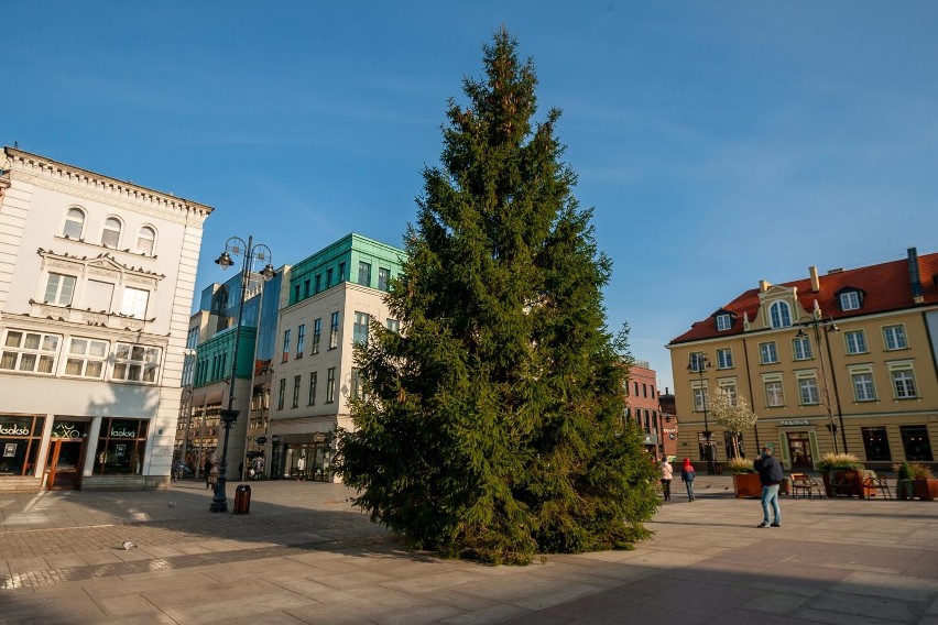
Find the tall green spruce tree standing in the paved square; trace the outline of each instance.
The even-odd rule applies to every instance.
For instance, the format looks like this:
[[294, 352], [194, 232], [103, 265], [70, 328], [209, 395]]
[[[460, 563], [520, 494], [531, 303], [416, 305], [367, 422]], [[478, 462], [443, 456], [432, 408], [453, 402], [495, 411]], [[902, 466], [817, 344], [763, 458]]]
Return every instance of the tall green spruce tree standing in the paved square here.
[[591, 210], [543, 122], [531, 59], [504, 30], [484, 79], [450, 100], [407, 259], [357, 363], [368, 394], [340, 432], [355, 503], [410, 545], [526, 563], [629, 548], [654, 513], [652, 463], [624, 417], [628, 358], [607, 331]]

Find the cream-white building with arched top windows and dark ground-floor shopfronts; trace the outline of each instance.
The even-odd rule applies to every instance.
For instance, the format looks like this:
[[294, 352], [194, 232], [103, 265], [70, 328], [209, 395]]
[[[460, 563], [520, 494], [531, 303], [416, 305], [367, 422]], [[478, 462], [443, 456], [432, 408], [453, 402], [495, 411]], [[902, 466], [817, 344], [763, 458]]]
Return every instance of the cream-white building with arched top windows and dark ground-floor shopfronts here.
[[0, 490], [167, 483], [211, 210], [4, 150]]

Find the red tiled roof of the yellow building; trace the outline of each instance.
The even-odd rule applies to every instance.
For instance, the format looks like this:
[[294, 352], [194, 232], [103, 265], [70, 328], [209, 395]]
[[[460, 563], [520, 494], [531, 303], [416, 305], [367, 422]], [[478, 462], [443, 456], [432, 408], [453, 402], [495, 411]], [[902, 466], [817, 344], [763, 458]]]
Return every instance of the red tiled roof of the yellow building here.
[[[819, 276], [820, 290], [811, 290], [810, 277], [786, 282], [779, 286], [797, 287], [798, 301], [805, 310], [812, 310], [815, 300], [825, 315], [835, 319], [862, 317], [876, 312], [903, 310], [938, 304], [938, 253], [918, 256], [919, 282], [921, 283], [921, 304], [916, 304], [912, 295], [909, 279], [909, 261], [891, 261], [880, 265], [870, 265], [855, 270], [844, 270]], [[838, 300], [839, 294], [846, 288], [858, 288], [863, 292], [862, 306], [857, 310], [843, 311]], [[669, 344], [687, 343], [717, 337], [732, 337], [743, 333], [743, 315], [749, 315], [754, 321], [759, 315], [759, 289], [752, 288], [720, 308], [717, 312], [729, 312], [734, 316], [732, 328], [717, 331], [716, 312], [701, 321], [696, 321], [690, 330], [672, 339]]]

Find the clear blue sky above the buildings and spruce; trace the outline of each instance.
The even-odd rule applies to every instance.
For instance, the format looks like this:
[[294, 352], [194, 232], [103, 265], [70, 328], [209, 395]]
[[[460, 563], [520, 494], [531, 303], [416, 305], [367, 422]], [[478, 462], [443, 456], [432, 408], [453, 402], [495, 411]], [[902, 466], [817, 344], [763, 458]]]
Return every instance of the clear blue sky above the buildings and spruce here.
[[293, 263], [401, 244], [446, 101], [502, 24], [614, 261], [611, 328], [664, 346], [761, 278], [938, 251], [931, 1], [0, 0], [0, 143], [208, 204]]

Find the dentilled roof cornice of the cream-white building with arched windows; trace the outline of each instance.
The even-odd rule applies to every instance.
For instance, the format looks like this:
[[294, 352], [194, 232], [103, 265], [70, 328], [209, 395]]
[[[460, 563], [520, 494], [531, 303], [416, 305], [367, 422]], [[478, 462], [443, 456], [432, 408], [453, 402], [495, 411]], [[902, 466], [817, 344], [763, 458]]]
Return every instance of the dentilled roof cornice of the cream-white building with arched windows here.
[[204, 204], [110, 178], [14, 147], [6, 147], [4, 152], [10, 167], [9, 175], [13, 182], [21, 180], [177, 222], [193, 218], [201, 222], [214, 210]]

